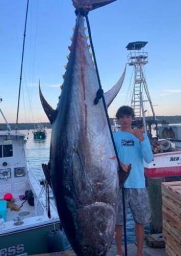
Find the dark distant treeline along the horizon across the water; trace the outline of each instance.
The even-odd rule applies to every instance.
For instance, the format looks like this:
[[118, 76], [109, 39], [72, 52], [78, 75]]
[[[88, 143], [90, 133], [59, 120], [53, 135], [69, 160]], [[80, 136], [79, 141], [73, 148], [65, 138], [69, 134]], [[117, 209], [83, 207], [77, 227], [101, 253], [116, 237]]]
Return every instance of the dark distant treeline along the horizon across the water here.
[[[149, 119], [149, 118], [148, 118]], [[181, 123], [181, 116], [157, 116], [157, 120], [161, 122], [168, 122], [168, 123]], [[113, 118], [110, 118], [110, 123], [113, 124]], [[38, 125], [40, 123], [19, 123], [18, 124], [18, 130], [33, 130], [37, 129]], [[47, 129], [51, 128], [50, 123], [41, 123], [43, 127], [46, 127]], [[16, 124], [10, 123], [11, 130], [15, 130]], [[0, 130], [7, 130], [6, 123], [0, 123]]]

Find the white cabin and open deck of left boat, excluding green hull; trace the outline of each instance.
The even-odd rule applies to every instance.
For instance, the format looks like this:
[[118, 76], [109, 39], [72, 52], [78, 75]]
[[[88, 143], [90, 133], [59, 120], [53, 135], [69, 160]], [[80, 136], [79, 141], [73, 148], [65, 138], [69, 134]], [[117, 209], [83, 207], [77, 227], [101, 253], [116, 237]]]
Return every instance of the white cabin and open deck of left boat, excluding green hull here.
[[47, 217], [45, 187], [28, 166], [25, 143], [24, 134], [0, 131], [0, 239], [19, 228], [59, 221], [52, 203], [52, 219]]

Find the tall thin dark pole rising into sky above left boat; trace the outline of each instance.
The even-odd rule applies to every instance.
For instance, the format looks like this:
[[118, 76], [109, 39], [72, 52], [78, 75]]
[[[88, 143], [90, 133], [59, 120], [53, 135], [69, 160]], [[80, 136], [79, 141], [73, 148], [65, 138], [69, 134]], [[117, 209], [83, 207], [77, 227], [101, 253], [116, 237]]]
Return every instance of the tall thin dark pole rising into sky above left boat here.
[[22, 56], [21, 56], [21, 71], [20, 71], [20, 78], [19, 78], [18, 106], [17, 106], [16, 127], [15, 127], [16, 131], [18, 130], [19, 99], [20, 99], [20, 92], [21, 92], [22, 64], [23, 64], [23, 57], [24, 57], [25, 35], [26, 35], [26, 29], [27, 29], [28, 7], [29, 7], [29, 0], [27, 0], [27, 12], [26, 12], [26, 16], [25, 16], [24, 34], [23, 34], [23, 45], [22, 45]]

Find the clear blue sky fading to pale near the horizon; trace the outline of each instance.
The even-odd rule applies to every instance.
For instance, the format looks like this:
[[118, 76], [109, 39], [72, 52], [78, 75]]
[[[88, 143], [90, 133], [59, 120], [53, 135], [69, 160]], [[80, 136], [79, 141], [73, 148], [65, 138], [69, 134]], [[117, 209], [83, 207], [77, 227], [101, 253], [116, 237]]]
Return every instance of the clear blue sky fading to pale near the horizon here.
[[[10, 123], [16, 122], [26, 6], [27, 0], [0, 0], [0, 108]], [[154, 112], [181, 115], [180, 10], [180, 0], [117, 0], [89, 13], [105, 92], [123, 72], [128, 42], [148, 41], [144, 70]], [[48, 121], [39, 99], [39, 79], [44, 97], [56, 109], [74, 25], [71, 0], [30, 0], [18, 122]], [[110, 117], [119, 106], [130, 105], [132, 73], [133, 67], [127, 65], [123, 86], [109, 108]]]

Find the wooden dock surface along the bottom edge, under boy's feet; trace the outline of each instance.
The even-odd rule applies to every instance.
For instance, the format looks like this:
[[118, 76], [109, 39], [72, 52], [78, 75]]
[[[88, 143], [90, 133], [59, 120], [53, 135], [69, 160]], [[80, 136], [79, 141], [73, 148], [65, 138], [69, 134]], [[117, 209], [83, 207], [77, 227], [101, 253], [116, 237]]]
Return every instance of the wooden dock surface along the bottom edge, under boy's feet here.
[[[127, 245], [127, 255], [136, 256], [136, 245], [128, 244]], [[144, 245], [143, 249], [144, 256], [166, 256], [165, 248], [150, 248]], [[76, 256], [73, 251], [64, 251], [64, 252], [53, 252], [45, 254], [36, 254], [34, 256]], [[112, 246], [107, 256], [116, 256], [116, 246]]]

